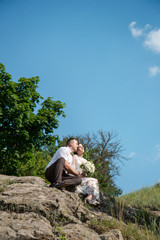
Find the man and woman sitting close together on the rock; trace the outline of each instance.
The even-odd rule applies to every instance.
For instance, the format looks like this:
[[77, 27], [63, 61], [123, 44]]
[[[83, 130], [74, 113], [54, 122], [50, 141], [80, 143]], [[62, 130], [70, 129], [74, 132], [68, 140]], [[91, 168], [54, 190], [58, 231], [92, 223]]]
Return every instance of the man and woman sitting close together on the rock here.
[[[72, 156], [72, 153], [77, 153]], [[78, 194], [87, 195], [86, 201], [91, 205], [99, 204], [99, 186], [96, 178], [86, 177], [81, 164], [87, 160], [83, 158], [84, 148], [74, 138], [67, 141], [67, 147], [61, 147], [52, 157], [45, 169], [45, 177], [51, 183], [50, 187], [63, 189], [74, 187]]]

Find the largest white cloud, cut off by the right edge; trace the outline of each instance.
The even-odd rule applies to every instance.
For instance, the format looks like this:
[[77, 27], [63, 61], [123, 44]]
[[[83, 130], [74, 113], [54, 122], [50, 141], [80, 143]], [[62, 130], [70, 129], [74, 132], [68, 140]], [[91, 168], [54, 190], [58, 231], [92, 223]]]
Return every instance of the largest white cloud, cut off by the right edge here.
[[160, 28], [150, 31], [144, 41], [144, 46], [153, 50], [156, 53], [160, 53]]

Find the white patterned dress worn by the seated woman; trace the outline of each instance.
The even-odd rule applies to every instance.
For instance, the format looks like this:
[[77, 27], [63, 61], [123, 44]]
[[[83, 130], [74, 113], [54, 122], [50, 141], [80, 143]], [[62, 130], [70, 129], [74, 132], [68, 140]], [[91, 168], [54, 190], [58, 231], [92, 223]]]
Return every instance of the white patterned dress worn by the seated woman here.
[[[71, 167], [75, 169], [76, 172], [79, 174], [82, 173], [82, 169], [80, 168], [80, 165], [82, 163], [86, 163], [87, 160], [83, 157], [80, 157], [78, 155], [73, 156], [73, 161]], [[82, 178], [82, 183], [78, 186], [76, 186], [76, 193], [82, 193], [87, 195], [93, 195], [93, 197], [99, 201], [99, 186], [98, 186], [98, 180], [96, 178], [91, 177], [84, 177]]]

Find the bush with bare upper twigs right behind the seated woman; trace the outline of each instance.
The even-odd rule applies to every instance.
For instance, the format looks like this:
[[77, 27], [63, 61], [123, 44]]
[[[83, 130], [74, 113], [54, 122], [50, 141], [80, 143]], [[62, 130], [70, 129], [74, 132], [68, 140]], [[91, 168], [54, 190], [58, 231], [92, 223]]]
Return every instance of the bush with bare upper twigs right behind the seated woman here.
[[[69, 137], [71, 136], [65, 137], [60, 146], [64, 145]], [[120, 175], [120, 163], [123, 164], [126, 158], [122, 155], [123, 148], [117, 138], [118, 134], [100, 130], [97, 133], [74, 137], [83, 144], [84, 157], [95, 164], [93, 177], [98, 179], [101, 191], [112, 196], [121, 194], [122, 190], [115, 184], [115, 177]]]

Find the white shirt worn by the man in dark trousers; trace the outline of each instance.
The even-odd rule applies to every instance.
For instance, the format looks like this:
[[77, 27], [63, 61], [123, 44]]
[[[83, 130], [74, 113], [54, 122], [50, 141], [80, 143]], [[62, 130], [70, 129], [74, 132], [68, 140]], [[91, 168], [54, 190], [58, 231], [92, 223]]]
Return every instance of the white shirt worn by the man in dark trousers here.
[[45, 170], [50, 167], [53, 163], [55, 163], [59, 158], [64, 158], [68, 161], [68, 164], [72, 164], [72, 155], [71, 149], [69, 147], [61, 147], [57, 150], [57, 152], [52, 157], [51, 161], [46, 166]]

